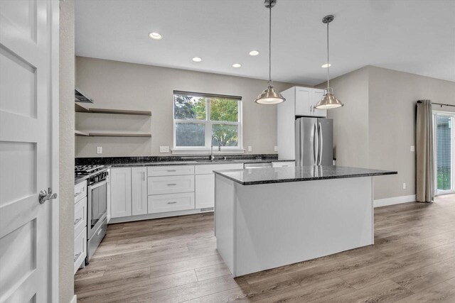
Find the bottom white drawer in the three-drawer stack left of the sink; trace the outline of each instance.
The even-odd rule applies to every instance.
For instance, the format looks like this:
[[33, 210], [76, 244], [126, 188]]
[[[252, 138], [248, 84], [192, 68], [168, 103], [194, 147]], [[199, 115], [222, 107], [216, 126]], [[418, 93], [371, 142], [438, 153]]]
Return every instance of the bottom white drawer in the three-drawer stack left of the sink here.
[[149, 196], [149, 214], [194, 209], [194, 193], [157, 194]]

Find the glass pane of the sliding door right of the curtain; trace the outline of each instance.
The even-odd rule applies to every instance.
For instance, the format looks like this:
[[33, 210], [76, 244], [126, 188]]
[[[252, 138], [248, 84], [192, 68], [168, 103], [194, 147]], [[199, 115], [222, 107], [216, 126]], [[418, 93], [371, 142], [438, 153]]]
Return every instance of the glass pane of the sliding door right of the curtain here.
[[441, 190], [451, 189], [451, 127], [451, 117], [437, 116], [437, 183]]

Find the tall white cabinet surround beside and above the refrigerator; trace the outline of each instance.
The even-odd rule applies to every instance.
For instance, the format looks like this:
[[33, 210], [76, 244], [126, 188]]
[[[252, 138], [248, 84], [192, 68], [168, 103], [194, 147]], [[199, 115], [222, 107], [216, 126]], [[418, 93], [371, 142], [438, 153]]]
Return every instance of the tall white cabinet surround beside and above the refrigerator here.
[[296, 116], [326, 117], [326, 109], [314, 109], [321, 100], [323, 89], [291, 87], [282, 92], [286, 101], [277, 107], [277, 142], [279, 160], [295, 159]]

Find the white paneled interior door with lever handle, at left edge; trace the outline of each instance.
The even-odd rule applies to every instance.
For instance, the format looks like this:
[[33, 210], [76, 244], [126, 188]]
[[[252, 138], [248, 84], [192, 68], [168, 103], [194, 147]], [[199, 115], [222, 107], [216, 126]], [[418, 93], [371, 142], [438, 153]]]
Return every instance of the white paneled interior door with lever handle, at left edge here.
[[58, 1], [0, 0], [0, 302], [58, 301], [58, 202], [38, 202], [48, 187], [58, 188]]

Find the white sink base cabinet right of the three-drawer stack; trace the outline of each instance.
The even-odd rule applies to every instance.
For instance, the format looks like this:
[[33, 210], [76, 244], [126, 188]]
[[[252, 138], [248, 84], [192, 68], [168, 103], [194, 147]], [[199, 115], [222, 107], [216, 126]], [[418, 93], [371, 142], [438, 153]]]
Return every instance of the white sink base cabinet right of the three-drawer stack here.
[[213, 170], [242, 169], [242, 163], [197, 165], [196, 173], [196, 209], [213, 208], [215, 206], [215, 174]]

